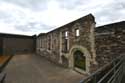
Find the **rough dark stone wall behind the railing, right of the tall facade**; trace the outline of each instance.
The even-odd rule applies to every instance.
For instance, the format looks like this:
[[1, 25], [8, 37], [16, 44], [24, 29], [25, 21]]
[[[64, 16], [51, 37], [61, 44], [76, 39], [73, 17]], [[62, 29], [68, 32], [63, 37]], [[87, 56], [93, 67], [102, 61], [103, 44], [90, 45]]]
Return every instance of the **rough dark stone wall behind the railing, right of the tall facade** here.
[[96, 60], [99, 67], [117, 56], [125, 54], [125, 22], [109, 24], [95, 29]]

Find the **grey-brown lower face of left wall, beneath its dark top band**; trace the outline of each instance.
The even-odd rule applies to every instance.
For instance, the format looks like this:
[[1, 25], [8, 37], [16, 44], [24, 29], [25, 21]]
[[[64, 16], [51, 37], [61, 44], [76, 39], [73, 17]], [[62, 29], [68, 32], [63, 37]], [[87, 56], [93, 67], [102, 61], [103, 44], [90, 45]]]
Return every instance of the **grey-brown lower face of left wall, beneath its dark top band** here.
[[4, 38], [3, 39], [3, 53], [27, 53], [33, 52], [34, 41], [33, 39], [23, 38]]

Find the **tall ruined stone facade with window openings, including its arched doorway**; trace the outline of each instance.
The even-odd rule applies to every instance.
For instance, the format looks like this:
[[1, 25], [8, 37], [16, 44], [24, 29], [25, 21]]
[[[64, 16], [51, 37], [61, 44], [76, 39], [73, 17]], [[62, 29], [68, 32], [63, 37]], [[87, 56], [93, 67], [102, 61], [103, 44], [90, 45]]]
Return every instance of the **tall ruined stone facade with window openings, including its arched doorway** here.
[[37, 54], [47, 59], [89, 73], [96, 64], [95, 18], [92, 14], [79, 18], [37, 37]]

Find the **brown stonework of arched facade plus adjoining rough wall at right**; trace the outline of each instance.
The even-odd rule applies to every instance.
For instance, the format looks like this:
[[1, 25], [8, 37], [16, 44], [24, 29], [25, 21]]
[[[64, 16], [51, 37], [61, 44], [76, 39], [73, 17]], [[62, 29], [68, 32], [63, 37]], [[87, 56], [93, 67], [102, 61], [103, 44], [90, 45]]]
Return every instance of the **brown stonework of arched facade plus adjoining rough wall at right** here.
[[[79, 32], [79, 34], [77, 33]], [[37, 54], [80, 73], [92, 73], [117, 56], [125, 54], [125, 21], [95, 28], [89, 14], [37, 37]], [[75, 66], [76, 52], [85, 59], [85, 69]]]

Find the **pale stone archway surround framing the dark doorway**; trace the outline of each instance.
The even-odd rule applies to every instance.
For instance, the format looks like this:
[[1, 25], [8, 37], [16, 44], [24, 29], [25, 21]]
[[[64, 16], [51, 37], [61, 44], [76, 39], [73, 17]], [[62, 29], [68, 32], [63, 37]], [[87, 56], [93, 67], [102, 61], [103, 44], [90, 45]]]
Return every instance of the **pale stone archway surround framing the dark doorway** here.
[[[82, 67], [82, 68], [79, 68], [78, 65], [77, 66], [75, 65], [76, 61], [75, 61], [74, 55], [76, 54], [76, 56], [77, 56], [77, 53], [80, 54], [80, 57], [82, 57], [81, 61], [83, 61], [82, 62], [83, 67], [79, 66], [79, 67]], [[87, 73], [87, 74], [89, 74], [90, 60], [91, 60], [91, 57], [90, 57], [90, 53], [87, 50], [87, 48], [85, 48], [83, 46], [75, 45], [75, 46], [73, 46], [70, 49], [70, 52], [69, 52], [69, 67], [71, 69], [75, 69], [75, 70], [77, 70], [80, 73]], [[80, 63], [80, 62], [78, 62], [78, 63]]]

